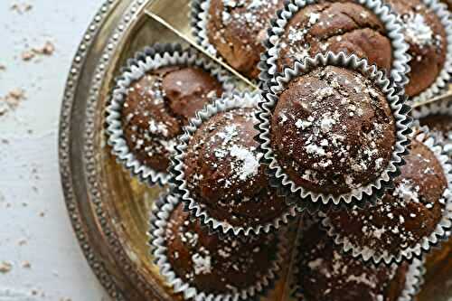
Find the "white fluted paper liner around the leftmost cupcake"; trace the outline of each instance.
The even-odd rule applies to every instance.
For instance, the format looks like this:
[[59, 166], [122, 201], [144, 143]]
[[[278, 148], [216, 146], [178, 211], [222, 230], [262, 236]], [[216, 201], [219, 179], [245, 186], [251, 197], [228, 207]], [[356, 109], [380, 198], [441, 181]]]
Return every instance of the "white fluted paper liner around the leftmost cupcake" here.
[[234, 85], [229, 73], [192, 48], [184, 49], [180, 44], [155, 44], [147, 47], [143, 52], [138, 52], [136, 57], [127, 61], [127, 66], [121, 71], [122, 75], [116, 80], [117, 85], [113, 90], [110, 103], [107, 108], [108, 145], [112, 146], [112, 154], [133, 176], [150, 185], [159, 183], [165, 185], [169, 174], [155, 171], [153, 168], [140, 162], [136, 155], [127, 146], [122, 128], [121, 112], [126, 100], [127, 89], [135, 81], [142, 78], [146, 72], [165, 66], [186, 64], [197, 66], [208, 71], [219, 80], [225, 91], [231, 91]]

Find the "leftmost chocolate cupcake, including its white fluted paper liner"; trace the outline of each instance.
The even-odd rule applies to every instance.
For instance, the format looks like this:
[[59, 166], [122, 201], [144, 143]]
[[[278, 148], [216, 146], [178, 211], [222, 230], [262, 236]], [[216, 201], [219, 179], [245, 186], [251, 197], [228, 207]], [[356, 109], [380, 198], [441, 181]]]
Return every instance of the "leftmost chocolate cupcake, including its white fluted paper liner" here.
[[119, 78], [108, 106], [114, 155], [141, 180], [165, 184], [183, 127], [229, 89], [226, 73], [191, 49], [157, 45], [139, 53]]

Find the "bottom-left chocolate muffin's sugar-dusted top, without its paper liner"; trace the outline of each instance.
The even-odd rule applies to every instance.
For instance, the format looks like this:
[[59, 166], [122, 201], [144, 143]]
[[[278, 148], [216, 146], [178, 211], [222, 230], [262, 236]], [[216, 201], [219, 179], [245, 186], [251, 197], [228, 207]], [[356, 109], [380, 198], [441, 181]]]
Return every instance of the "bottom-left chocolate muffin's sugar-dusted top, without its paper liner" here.
[[177, 277], [199, 292], [220, 295], [255, 286], [276, 259], [275, 234], [259, 238], [220, 238], [190, 221], [183, 203], [165, 230], [168, 261]]

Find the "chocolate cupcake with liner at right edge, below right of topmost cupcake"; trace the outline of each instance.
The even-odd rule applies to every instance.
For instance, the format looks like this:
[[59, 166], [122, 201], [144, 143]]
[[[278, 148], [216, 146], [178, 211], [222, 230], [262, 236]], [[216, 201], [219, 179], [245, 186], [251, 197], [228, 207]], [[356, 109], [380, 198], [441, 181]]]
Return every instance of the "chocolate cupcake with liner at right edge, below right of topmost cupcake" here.
[[395, 188], [375, 207], [326, 214], [323, 223], [344, 250], [352, 249], [364, 260], [390, 263], [419, 256], [422, 249], [438, 243], [443, 227], [451, 226], [450, 165], [441, 155], [442, 147], [431, 144], [432, 139], [412, 141]]

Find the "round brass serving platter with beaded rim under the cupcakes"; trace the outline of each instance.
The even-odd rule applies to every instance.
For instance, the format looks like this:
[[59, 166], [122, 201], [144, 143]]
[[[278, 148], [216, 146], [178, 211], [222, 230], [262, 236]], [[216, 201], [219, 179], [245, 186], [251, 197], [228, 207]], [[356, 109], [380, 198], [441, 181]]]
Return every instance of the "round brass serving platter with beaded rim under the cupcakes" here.
[[[128, 58], [154, 42], [180, 42], [145, 11], [170, 18], [174, 27], [190, 34], [189, 3], [106, 1], [80, 42], [67, 80], [60, 123], [62, 187], [80, 247], [115, 300], [182, 300], [165, 287], [147, 247], [148, 212], [162, 189], [138, 183], [115, 162], [106, 146], [104, 111]], [[428, 260], [419, 300], [452, 296], [450, 249], [452, 243]], [[288, 300], [288, 266], [267, 300]]]

